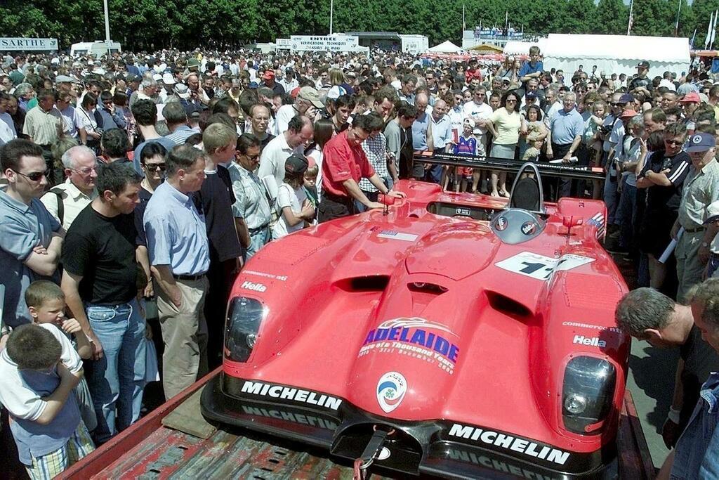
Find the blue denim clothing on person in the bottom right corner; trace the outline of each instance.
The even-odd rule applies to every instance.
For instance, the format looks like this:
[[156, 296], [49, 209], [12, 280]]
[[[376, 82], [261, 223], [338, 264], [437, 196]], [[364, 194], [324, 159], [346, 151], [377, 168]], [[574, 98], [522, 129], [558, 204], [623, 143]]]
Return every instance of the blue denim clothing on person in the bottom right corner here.
[[702, 385], [700, 399], [677, 442], [672, 463], [672, 480], [716, 479], [719, 477], [719, 373], [712, 373]]

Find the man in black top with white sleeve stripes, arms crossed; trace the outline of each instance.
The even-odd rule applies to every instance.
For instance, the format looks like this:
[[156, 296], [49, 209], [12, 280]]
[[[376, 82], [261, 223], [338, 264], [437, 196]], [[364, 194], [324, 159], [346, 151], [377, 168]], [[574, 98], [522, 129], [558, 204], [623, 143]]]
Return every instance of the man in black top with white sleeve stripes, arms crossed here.
[[682, 151], [686, 137], [684, 123], [669, 125], [664, 130], [664, 150], [649, 157], [636, 180], [638, 189], [647, 189], [639, 248], [649, 258], [650, 285], [655, 289], [661, 289], [667, 276], [659, 257], [672, 241], [670, 233], [682, 199], [682, 184], [690, 171], [691, 159]]

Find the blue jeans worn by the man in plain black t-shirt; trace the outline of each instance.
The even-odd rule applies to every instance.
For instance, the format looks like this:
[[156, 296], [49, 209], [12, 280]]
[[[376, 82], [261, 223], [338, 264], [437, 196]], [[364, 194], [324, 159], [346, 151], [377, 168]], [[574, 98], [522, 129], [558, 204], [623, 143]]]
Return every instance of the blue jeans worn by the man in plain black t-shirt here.
[[136, 299], [113, 306], [89, 304], [87, 315], [104, 350], [87, 376], [98, 423], [93, 439], [104, 443], [139, 418], [145, 389], [145, 319]]

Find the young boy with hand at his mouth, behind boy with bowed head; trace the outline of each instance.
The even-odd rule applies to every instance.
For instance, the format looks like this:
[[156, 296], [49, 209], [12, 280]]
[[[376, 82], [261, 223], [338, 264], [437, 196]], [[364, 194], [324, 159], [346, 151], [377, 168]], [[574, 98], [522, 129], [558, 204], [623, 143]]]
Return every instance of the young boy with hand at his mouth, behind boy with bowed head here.
[[[92, 357], [90, 340], [74, 318], [65, 318], [65, 294], [60, 286], [47, 280], [32, 282], [25, 290], [25, 303], [32, 317], [32, 322], [38, 325], [55, 325], [65, 332], [65, 336], [74, 345], [78, 355], [83, 360]], [[83, 422], [89, 431], [97, 427], [97, 416], [90, 397], [88, 383], [83, 376], [75, 388], [75, 398], [83, 417]]]

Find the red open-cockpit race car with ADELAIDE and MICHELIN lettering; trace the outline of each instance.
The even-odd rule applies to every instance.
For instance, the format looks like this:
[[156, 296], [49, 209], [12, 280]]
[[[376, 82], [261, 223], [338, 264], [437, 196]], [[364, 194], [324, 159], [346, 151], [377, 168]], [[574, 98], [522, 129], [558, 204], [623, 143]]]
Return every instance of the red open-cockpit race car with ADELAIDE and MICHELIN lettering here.
[[[533, 168], [533, 167], [527, 167]], [[237, 278], [203, 415], [402, 474], [611, 478], [630, 340], [600, 201], [400, 181]]]

